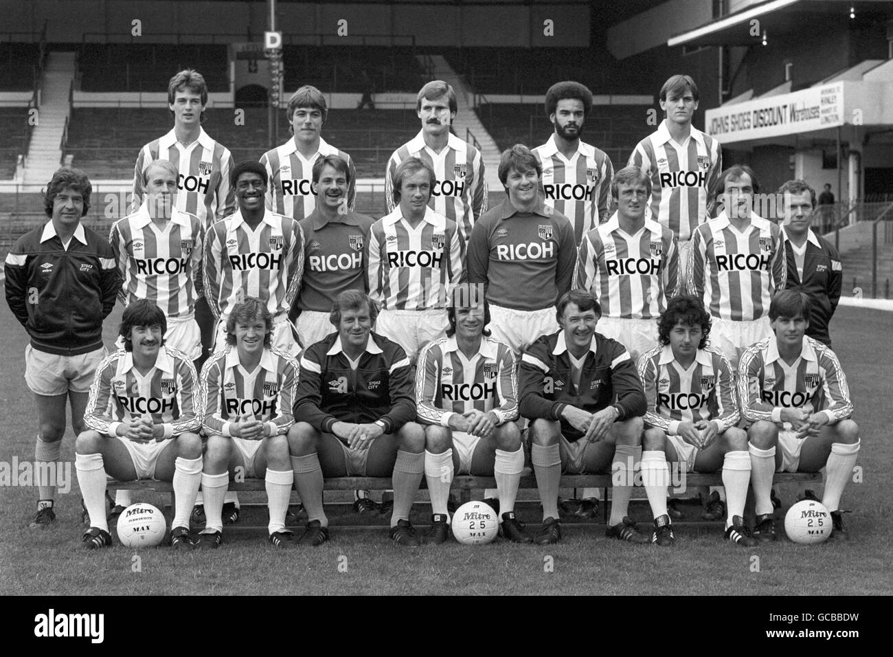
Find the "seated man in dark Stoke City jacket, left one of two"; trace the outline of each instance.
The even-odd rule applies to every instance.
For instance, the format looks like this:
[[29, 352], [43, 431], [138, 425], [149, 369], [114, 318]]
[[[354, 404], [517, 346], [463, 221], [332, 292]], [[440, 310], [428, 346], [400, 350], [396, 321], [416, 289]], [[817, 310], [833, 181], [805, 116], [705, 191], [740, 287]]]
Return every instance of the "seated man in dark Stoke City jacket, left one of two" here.
[[299, 543], [329, 540], [322, 477], [390, 476], [390, 537], [418, 545], [409, 522], [425, 467], [425, 432], [415, 419], [413, 374], [396, 342], [372, 333], [377, 310], [361, 291], [343, 291], [330, 321], [338, 330], [301, 356], [294, 417], [288, 432], [295, 487], [307, 511]]

